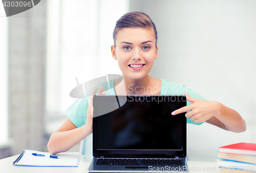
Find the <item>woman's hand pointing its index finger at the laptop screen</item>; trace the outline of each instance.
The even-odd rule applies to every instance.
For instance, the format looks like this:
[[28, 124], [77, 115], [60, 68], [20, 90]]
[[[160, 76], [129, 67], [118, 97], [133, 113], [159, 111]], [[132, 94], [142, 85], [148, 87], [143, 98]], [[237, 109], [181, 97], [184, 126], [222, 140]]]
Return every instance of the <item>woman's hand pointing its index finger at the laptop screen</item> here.
[[189, 111], [185, 114], [186, 118], [198, 123], [204, 122], [211, 117], [218, 116], [220, 114], [221, 103], [217, 101], [195, 99], [189, 97], [187, 93], [185, 93], [185, 96], [187, 101], [191, 102], [192, 104], [181, 107], [180, 109], [174, 111], [172, 115]]

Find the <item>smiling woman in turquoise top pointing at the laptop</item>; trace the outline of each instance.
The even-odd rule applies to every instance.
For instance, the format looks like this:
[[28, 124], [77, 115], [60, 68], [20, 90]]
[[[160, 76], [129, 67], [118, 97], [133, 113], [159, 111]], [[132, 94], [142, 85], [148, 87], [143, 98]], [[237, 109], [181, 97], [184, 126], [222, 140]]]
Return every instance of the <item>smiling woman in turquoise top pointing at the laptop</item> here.
[[[137, 26], [137, 24], [142, 24]], [[153, 21], [143, 12], [129, 12], [117, 20], [113, 33], [112, 56], [118, 62], [122, 77], [109, 81], [110, 90], [100, 87], [97, 94], [106, 95], [185, 95], [187, 106], [173, 112], [186, 113], [187, 123], [205, 121], [232, 132], [244, 132], [245, 121], [234, 110], [217, 101], [207, 101], [182, 84], [154, 78], [148, 73], [158, 57], [157, 32]], [[156, 88], [151, 92], [137, 89]], [[106, 89], [106, 88], [105, 88]], [[133, 89], [133, 92], [128, 89]], [[173, 90], [170, 90], [173, 89]], [[78, 99], [67, 110], [67, 120], [55, 131], [48, 143], [51, 154], [63, 152], [92, 133], [93, 96]], [[157, 115], [156, 115], [157, 116]], [[171, 115], [170, 115], [171, 116]]]

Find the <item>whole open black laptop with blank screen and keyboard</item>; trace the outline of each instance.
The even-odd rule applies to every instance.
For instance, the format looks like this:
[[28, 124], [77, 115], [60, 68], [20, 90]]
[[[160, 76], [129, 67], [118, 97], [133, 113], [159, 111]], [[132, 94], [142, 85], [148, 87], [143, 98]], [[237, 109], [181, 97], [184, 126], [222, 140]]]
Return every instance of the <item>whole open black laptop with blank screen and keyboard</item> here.
[[184, 95], [95, 95], [89, 172], [188, 172]]

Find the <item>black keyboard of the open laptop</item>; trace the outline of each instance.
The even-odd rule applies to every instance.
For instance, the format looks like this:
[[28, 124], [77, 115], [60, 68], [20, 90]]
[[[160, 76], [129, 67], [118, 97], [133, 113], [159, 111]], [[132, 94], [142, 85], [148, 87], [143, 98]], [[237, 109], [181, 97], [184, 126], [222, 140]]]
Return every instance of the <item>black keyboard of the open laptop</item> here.
[[178, 166], [180, 159], [117, 159], [99, 158], [96, 165]]

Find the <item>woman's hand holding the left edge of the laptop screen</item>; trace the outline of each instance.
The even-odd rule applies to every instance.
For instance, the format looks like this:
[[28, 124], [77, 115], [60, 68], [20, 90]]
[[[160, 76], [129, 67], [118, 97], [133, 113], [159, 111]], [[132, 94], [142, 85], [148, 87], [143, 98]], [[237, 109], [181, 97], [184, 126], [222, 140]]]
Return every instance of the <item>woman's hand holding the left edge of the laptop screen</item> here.
[[[86, 124], [83, 125], [86, 131], [89, 132], [89, 134], [91, 134], [93, 131], [93, 96], [96, 94], [96, 92], [97, 92], [97, 87], [94, 88], [90, 96], [89, 106], [87, 109]], [[105, 95], [105, 90], [103, 89], [103, 87], [100, 87], [98, 94]]]

